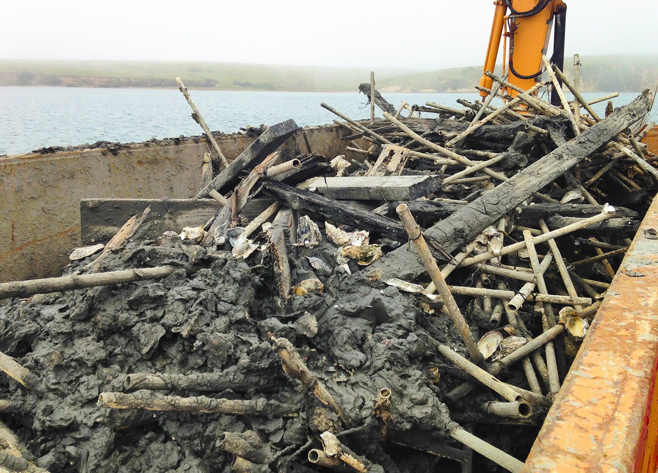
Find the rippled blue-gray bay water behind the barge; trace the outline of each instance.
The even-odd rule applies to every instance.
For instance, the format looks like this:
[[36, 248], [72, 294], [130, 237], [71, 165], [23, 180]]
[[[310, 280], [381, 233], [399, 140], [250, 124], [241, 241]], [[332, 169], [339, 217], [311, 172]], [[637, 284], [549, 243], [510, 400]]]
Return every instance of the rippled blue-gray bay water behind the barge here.
[[[247, 125], [271, 125], [288, 118], [293, 118], [299, 126], [331, 123], [338, 118], [320, 107], [321, 102], [351, 118], [370, 116], [366, 97], [356, 92], [193, 90], [191, 95], [211, 130], [224, 133], [236, 132]], [[592, 100], [604, 94], [584, 95]], [[622, 93], [613, 104], [619, 107], [637, 95]], [[384, 97], [395, 107], [405, 100], [418, 105], [434, 101], [461, 109], [456, 99], [474, 101], [478, 94], [384, 93]], [[605, 102], [594, 107], [603, 114]], [[651, 120], [657, 119], [655, 110], [656, 107]], [[190, 113], [178, 89], [0, 87], [0, 155], [99, 140], [129, 142], [202, 134]]]

